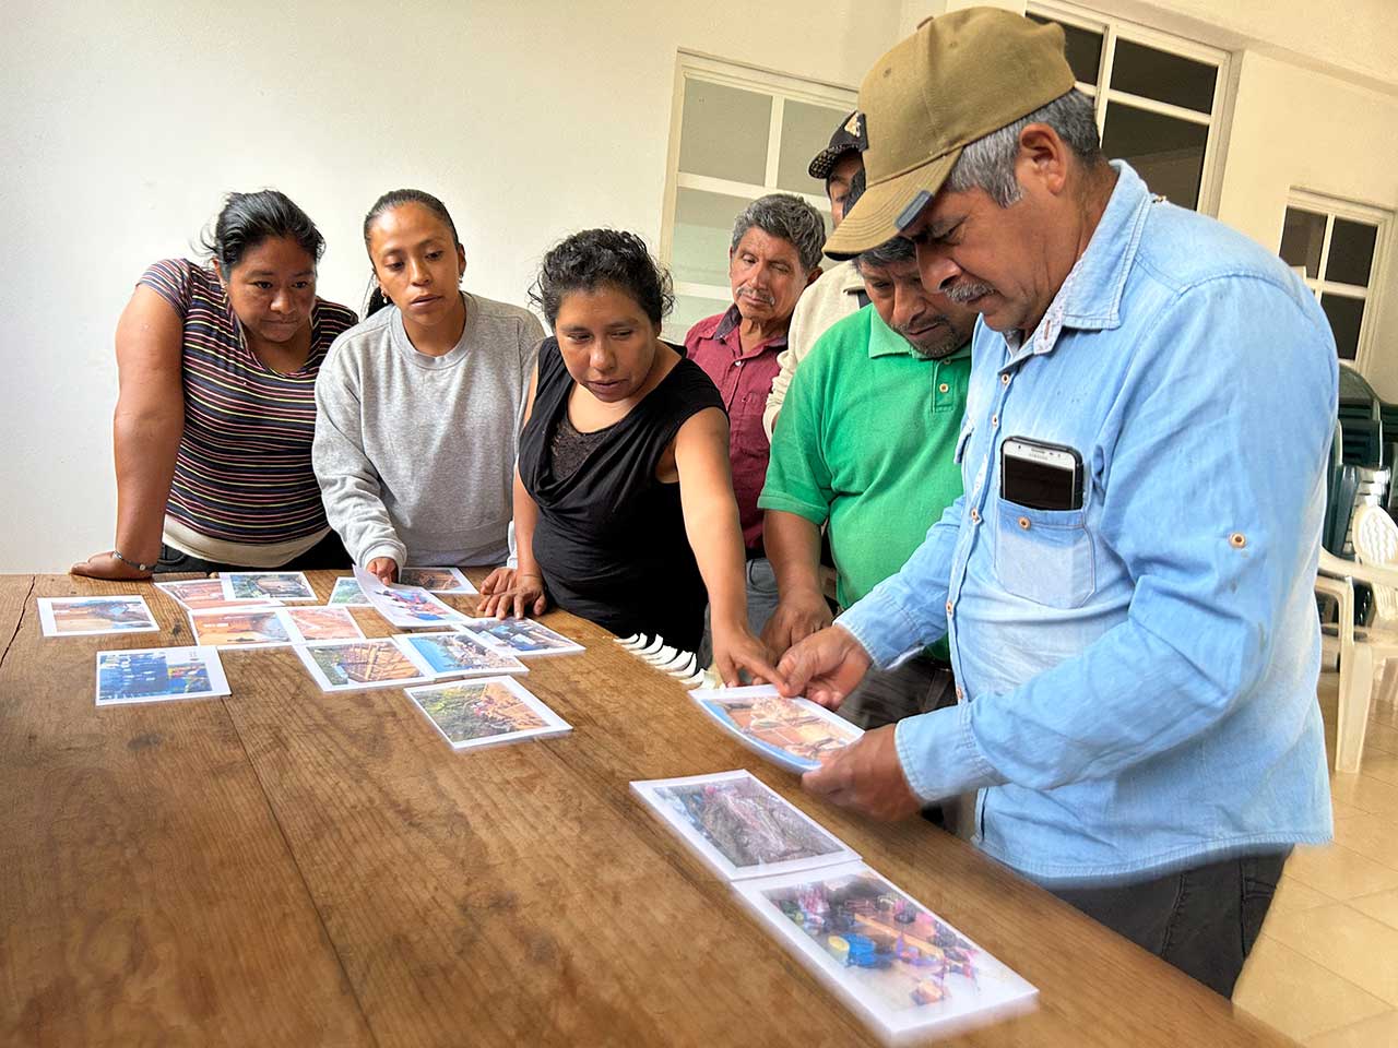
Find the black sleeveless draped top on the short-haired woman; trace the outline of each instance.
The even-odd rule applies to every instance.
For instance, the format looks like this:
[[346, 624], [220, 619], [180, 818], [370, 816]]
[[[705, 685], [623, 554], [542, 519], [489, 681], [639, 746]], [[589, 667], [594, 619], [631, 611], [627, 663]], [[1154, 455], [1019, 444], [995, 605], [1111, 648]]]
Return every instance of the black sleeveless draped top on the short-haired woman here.
[[[684, 349], [678, 349], [684, 355]], [[707, 604], [685, 535], [679, 485], [656, 479], [660, 457], [691, 415], [723, 411], [709, 376], [682, 359], [568, 476], [554, 472], [552, 440], [573, 376], [556, 338], [538, 351], [534, 412], [520, 437], [520, 479], [538, 506], [534, 559], [549, 599], [619, 637], [661, 634], [696, 651]]]

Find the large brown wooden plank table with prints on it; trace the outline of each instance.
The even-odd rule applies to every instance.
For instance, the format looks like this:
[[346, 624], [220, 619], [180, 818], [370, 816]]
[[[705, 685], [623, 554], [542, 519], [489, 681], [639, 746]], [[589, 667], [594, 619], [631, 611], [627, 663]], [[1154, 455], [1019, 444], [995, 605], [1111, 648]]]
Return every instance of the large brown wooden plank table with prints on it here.
[[[41, 634], [36, 597], [116, 592], [164, 633]], [[587, 646], [526, 678], [573, 732], [454, 753], [400, 690], [324, 694], [288, 650], [224, 653], [228, 699], [98, 710], [94, 653], [189, 643], [182, 611], [0, 576], [0, 1044], [874, 1042], [628, 789], [734, 767], [1039, 987], [955, 1044], [1290, 1044], [930, 824], [802, 794], [597, 626], [544, 622]]]

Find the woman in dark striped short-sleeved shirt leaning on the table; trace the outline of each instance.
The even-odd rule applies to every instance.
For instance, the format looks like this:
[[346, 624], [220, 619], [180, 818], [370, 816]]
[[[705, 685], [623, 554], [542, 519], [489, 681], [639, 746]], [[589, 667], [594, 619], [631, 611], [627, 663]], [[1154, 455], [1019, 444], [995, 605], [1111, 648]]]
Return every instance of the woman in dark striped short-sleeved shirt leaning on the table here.
[[116, 328], [116, 546], [95, 578], [350, 562], [310, 468], [316, 374], [352, 310], [316, 298], [324, 239], [284, 194], [232, 193], [206, 243], [141, 277]]

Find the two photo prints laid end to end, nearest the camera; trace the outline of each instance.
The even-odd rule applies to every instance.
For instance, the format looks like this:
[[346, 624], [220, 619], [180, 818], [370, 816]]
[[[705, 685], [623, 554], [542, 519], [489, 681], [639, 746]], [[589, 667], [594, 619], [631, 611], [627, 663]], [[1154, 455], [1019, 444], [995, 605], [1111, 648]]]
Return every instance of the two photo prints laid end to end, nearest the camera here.
[[948, 1037], [1033, 1006], [1029, 982], [751, 773], [630, 787], [885, 1042]]

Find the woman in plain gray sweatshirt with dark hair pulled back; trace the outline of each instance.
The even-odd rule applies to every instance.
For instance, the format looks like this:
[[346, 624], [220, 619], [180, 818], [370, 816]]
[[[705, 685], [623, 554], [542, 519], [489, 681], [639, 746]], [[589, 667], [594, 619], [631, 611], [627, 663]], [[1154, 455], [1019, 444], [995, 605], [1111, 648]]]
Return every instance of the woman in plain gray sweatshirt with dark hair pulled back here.
[[514, 460], [544, 328], [460, 289], [466, 252], [421, 190], [363, 219], [377, 288], [316, 380], [312, 460], [330, 525], [356, 565], [502, 565]]

